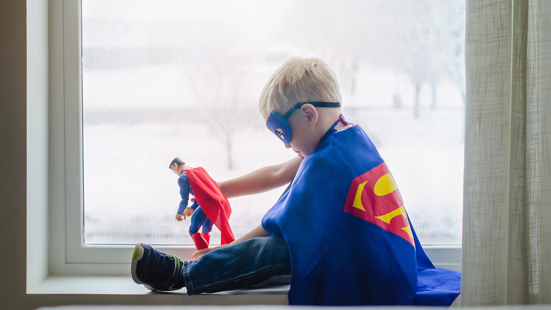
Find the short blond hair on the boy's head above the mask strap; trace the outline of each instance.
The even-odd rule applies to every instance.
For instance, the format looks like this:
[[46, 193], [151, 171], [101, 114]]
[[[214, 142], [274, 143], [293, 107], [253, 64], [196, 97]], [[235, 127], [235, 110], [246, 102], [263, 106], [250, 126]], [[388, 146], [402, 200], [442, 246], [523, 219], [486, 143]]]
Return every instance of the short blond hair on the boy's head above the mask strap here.
[[[321, 58], [287, 57], [262, 88], [258, 111], [283, 115], [299, 102], [341, 102], [337, 75]], [[341, 108], [331, 108], [341, 109]]]

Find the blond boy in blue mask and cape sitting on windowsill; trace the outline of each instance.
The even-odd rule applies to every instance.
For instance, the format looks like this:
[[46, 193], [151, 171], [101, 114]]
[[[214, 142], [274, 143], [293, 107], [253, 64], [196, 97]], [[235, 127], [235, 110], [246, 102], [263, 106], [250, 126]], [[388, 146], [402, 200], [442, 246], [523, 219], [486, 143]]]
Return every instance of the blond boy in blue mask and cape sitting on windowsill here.
[[449, 306], [459, 293], [458, 272], [431, 271], [440, 269], [423, 252], [390, 171], [365, 132], [344, 120], [340, 102], [327, 63], [287, 58], [258, 106], [267, 127], [300, 157], [220, 188], [231, 197], [292, 180], [288, 189], [260, 226], [198, 251], [199, 260], [182, 262], [137, 244], [134, 281], [164, 291], [185, 286], [193, 294], [290, 274], [289, 304]]

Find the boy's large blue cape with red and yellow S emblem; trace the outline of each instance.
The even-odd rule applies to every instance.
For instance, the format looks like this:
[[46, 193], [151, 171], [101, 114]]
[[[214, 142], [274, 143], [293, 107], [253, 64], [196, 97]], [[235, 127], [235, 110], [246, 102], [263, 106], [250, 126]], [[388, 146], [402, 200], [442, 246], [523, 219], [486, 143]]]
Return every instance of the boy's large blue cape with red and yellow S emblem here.
[[322, 138], [262, 226], [288, 244], [289, 304], [449, 306], [459, 294], [460, 273], [434, 268], [358, 125]]

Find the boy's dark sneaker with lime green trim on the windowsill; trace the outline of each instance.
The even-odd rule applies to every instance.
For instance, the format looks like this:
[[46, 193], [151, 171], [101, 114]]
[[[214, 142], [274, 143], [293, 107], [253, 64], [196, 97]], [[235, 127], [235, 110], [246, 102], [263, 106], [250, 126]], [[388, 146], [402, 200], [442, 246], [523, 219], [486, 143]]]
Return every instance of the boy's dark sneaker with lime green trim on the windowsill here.
[[136, 244], [132, 254], [132, 279], [149, 290], [175, 291], [184, 287], [183, 261], [145, 243]]

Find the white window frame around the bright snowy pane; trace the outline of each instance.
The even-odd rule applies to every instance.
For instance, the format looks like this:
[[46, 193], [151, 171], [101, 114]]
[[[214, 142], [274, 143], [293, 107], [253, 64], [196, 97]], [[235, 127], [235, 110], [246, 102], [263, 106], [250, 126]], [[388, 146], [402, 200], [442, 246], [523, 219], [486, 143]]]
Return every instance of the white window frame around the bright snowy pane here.
[[[129, 275], [133, 245], [83, 240], [80, 0], [50, 1], [50, 275]], [[156, 246], [190, 259], [193, 245]], [[426, 246], [437, 267], [461, 268], [461, 245]]]

